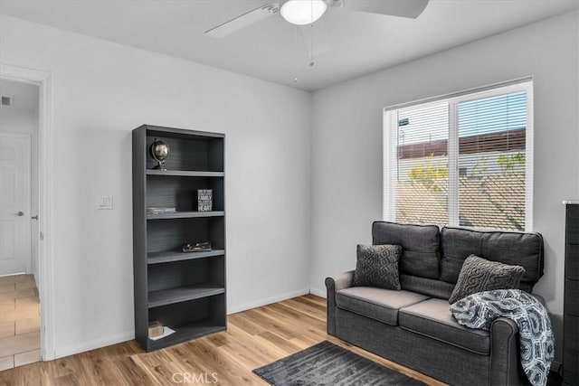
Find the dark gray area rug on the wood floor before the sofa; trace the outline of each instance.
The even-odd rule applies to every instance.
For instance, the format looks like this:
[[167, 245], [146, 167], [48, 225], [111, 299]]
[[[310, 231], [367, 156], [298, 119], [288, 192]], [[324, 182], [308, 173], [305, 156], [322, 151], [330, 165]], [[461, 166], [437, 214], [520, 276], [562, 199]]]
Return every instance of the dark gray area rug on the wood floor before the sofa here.
[[267, 364], [253, 372], [274, 386], [424, 384], [328, 341]]

